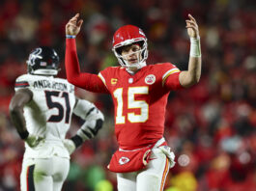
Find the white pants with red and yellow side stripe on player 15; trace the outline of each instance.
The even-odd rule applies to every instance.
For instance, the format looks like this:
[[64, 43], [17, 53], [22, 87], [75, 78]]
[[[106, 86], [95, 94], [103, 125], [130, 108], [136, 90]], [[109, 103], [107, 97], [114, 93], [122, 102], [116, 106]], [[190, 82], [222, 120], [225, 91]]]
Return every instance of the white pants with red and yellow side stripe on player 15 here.
[[159, 148], [152, 150], [152, 159], [144, 170], [118, 173], [119, 191], [162, 191], [169, 172], [169, 160]]

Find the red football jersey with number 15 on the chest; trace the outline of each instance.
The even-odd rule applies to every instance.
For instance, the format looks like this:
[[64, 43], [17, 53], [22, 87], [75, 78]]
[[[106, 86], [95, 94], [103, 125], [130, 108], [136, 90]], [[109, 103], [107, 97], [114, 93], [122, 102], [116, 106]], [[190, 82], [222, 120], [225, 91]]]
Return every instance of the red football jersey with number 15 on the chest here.
[[142, 148], [162, 138], [168, 95], [181, 88], [179, 74], [169, 63], [146, 66], [134, 75], [122, 67], [100, 71], [113, 98], [115, 133], [122, 149]]

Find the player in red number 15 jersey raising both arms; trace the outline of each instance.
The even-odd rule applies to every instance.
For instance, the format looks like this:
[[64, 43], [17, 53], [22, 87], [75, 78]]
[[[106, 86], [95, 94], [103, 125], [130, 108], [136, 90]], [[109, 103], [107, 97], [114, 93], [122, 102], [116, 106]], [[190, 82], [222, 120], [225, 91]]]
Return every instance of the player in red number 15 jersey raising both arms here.
[[200, 37], [196, 20], [185, 20], [190, 38], [188, 69], [170, 63], [147, 66], [147, 38], [133, 25], [119, 28], [113, 52], [120, 67], [97, 74], [80, 72], [75, 36], [83, 20], [74, 15], [66, 25], [66, 71], [71, 84], [95, 93], [107, 93], [115, 106], [115, 133], [119, 144], [108, 168], [117, 173], [120, 191], [163, 190], [173, 167], [174, 153], [163, 138], [164, 116], [170, 91], [196, 84], [201, 75]]

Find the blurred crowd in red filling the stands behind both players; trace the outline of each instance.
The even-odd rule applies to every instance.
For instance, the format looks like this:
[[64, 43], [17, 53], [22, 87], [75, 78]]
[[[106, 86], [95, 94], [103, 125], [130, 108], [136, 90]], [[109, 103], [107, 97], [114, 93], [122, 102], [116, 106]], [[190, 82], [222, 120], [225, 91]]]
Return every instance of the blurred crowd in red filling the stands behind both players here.
[[[166, 191], [256, 190], [256, 5], [253, 0], [1, 0], [0, 6], [0, 191], [19, 190], [23, 142], [8, 114], [15, 78], [39, 45], [56, 49], [59, 76], [66, 78], [65, 24], [79, 13], [76, 38], [81, 69], [98, 73], [117, 66], [113, 33], [134, 24], [148, 37], [148, 64], [171, 62], [187, 68], [187, 14], [199, 25], [203, 69], [194, 87], [172, 92], [165, 138], [176, 153]], [[109, 95], [76, 90], [93, 101], [106, 122], [95, 140], [71, 155], [63, 190], [114, 191], [116, 176], [106, 168], [114, 150]], [[81, 122], [72, 119], [68, 137]]]

